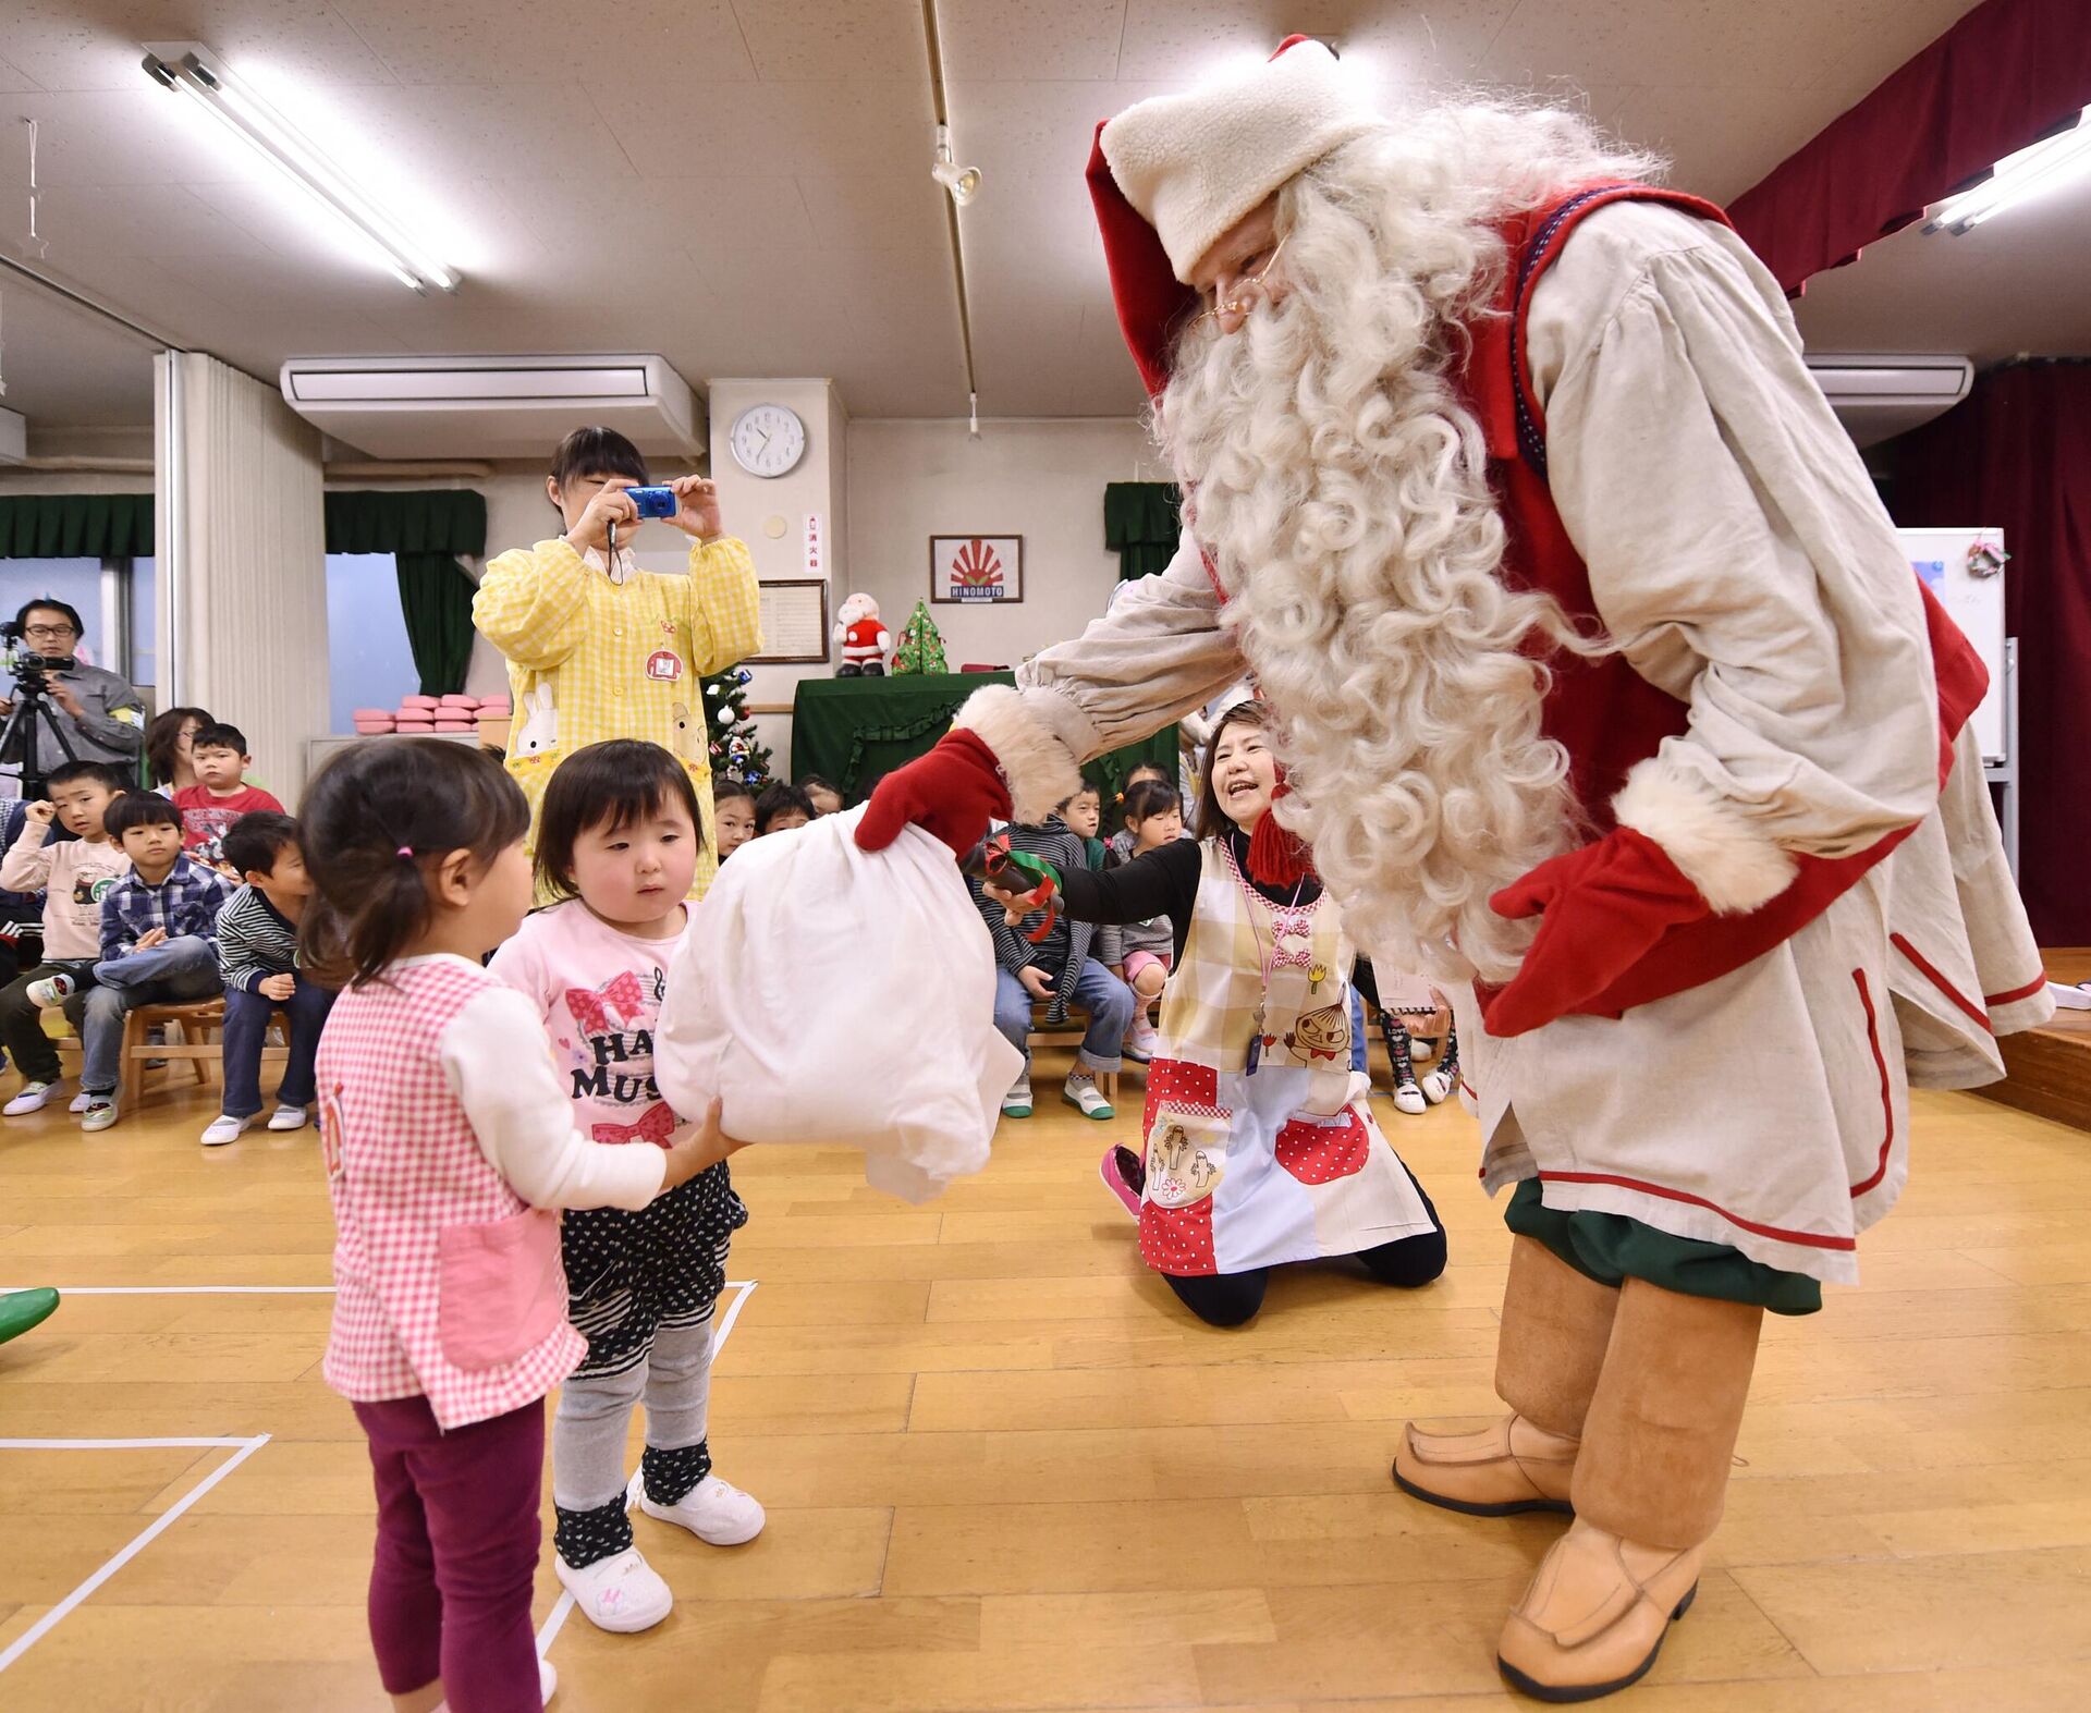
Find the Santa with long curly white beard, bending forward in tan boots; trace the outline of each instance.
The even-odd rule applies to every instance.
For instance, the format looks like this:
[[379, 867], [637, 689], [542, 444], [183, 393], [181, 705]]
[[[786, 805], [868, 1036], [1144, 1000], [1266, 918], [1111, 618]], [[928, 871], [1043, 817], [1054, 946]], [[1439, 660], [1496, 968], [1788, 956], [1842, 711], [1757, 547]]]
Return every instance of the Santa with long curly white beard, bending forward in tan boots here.
[[[1765, 1311], [1857, 1280], [1907, 1090], [2049, 1012], [1984, 692], [1721, 211], [1577, 115], [1386, 115], [1334, 56], [1140, 102], [1089, 167], [1186, 542], [889, 776], [966, 849], [1255, 671], [1353, 939], [1455, 993], [1514, 1186], [1508, 1414], [1401, 1487], [1572, 1523], [1518, 1688], [1635, 1682], [1698, 1585]], [[1284, 860], [1284, 851], [1271, 853]]]

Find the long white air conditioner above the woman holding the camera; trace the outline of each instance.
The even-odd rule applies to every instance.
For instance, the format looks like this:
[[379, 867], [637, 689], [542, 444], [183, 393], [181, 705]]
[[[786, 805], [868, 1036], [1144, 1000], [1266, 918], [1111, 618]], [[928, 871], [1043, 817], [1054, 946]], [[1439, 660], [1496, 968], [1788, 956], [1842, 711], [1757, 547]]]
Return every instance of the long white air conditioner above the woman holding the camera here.
[[707, 437], [667, 358], [291, 358], [282, 395], [370, 458], [544, 458], [579, 427], [696, 458]]

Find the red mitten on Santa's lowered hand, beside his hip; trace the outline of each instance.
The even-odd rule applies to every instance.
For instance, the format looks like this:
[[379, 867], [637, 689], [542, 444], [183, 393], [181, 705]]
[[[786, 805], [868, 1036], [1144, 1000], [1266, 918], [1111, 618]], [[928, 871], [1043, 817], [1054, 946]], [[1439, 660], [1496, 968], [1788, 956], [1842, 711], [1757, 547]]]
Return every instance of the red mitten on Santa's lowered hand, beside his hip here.
[[1539, 916], [1524, 964], [1483, 1004], [1483, 1023], [1499, 1037], [1583, 1010], [1673, 927], [1713, 914], [1669, 851], [1631, 826], [1547, 858], [1489, 908], [1512, 920]]

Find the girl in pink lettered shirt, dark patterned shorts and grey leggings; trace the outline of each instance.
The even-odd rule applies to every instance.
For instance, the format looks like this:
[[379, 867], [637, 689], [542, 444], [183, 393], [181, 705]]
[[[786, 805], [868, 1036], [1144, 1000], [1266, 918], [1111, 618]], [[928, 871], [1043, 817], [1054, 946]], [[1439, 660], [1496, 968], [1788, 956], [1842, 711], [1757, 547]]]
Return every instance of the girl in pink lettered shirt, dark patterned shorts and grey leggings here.
[[[552, 1037], [575, 1123], [640, 1155], [677, 1125], [654, 1083], [652, 1040], [700, 841], [690, 776], [661, 745], [575, 751], [537, 818], [537, 895], [560, 901], [493, 958]], [[713, 1546], [761, 1533], [763, 1508], [711, 1472], [707, 1443], [711, 1316], [728, 1240], [746, 1221], [723, 1159], [640, 1211], [565, 1219], [567, 1314], [588, 1360], [560, 1387], [552, 1422], [554, 1567], [602, 1629], [650, 1629], [673, 1606], [627, 1514], [625, 1435], [640, 1399], [640, 1510]]]

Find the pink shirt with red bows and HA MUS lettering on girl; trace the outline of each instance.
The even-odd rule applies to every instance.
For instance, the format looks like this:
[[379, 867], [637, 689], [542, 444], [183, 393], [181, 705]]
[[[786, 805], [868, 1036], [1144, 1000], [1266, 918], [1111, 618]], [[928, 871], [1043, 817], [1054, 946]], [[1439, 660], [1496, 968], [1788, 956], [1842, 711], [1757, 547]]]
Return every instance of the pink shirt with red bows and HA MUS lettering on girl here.
[[527, 916], [493, 954], [491, 973], [544, 1019], [562, 1092], [596, 1142], [665, 1148], [677, 1123], [652, 1060], [667, 966], [686, 937], [688, 922], [669, 939], [619, 933], [569, 899]]

